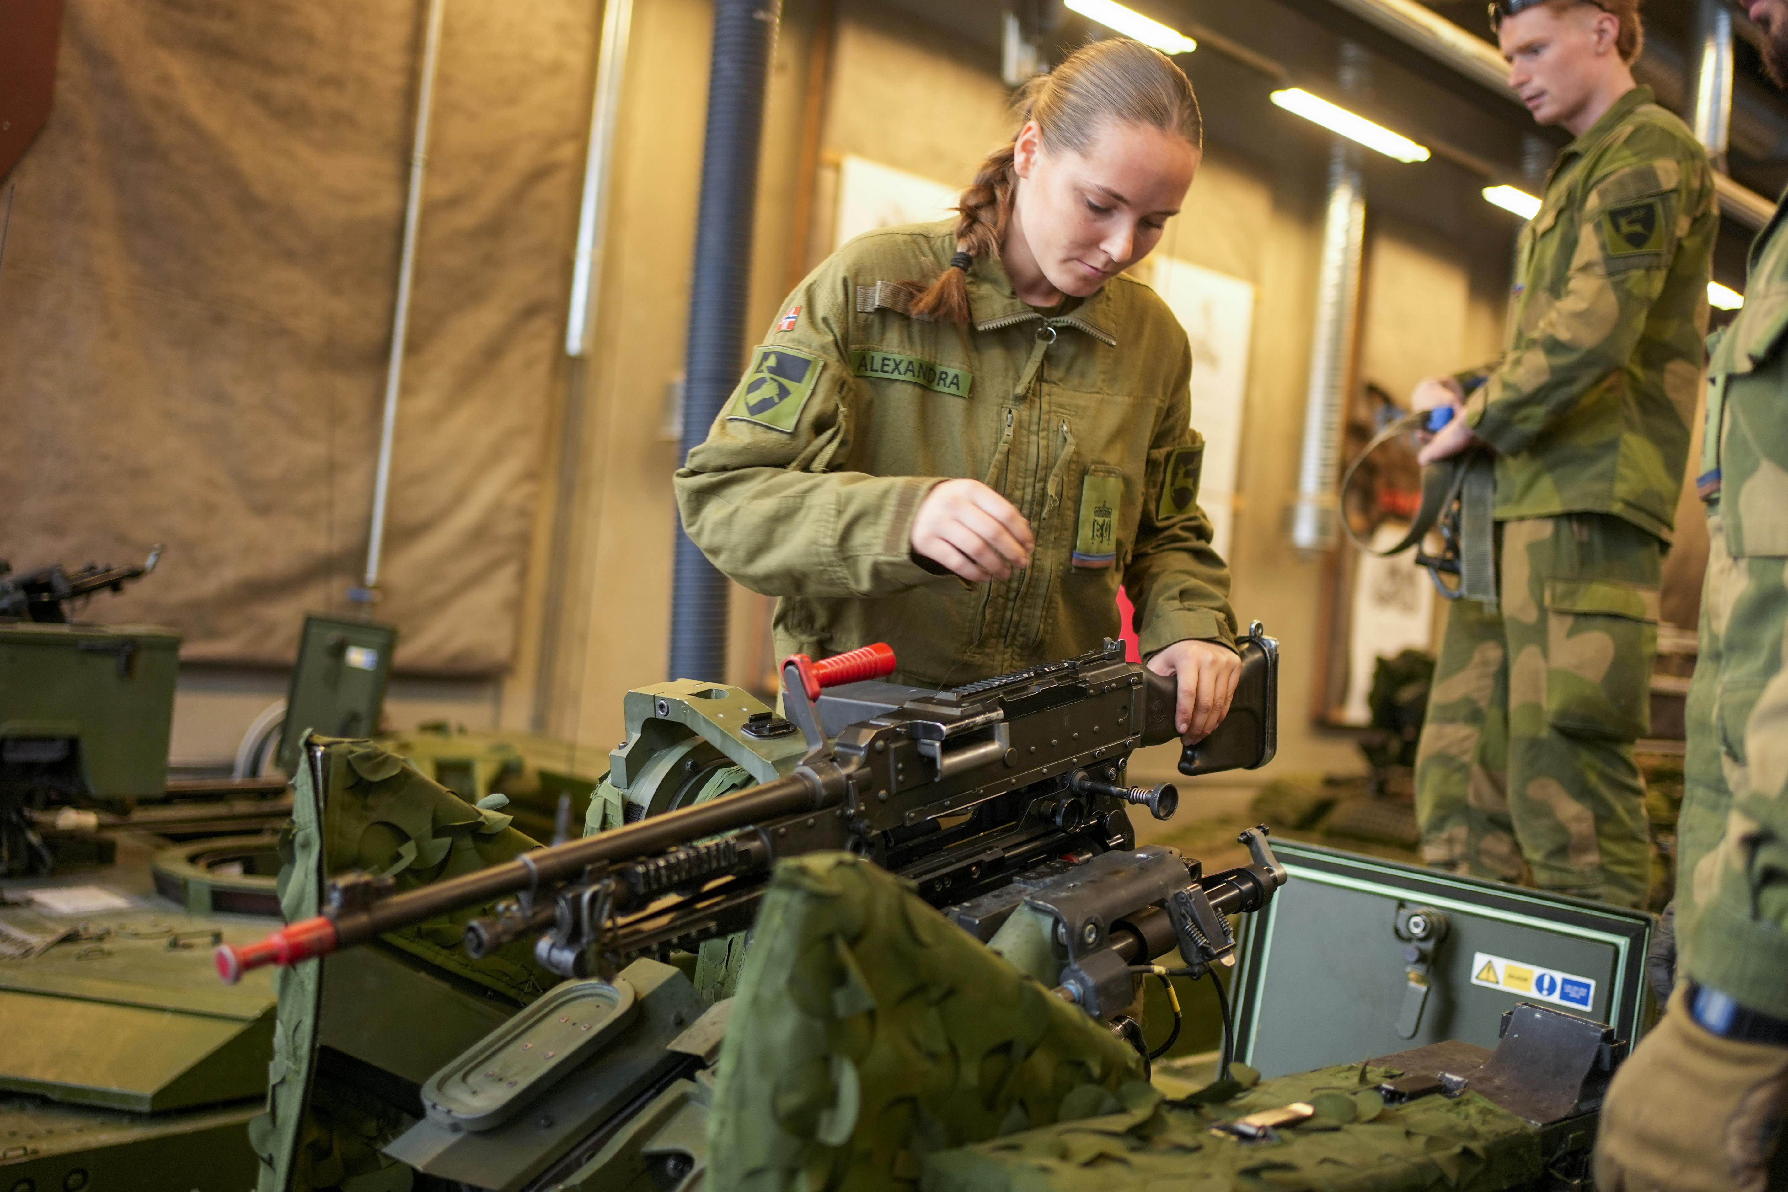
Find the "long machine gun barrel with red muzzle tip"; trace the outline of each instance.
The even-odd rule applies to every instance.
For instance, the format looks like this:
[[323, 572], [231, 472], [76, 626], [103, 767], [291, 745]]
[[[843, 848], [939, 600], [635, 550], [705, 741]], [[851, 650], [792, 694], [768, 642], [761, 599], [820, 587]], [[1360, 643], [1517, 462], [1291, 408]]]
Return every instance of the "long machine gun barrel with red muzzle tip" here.
[[[831, 790], [831, 786], [840, 786]], [[365, 944], [374, 936], [401, 928], [413, 928], [429, 919], [483, 906], [506, 894], [522, 890], [551, 890], [572, 881], [597, 865], [631, 861], [674, 849], [690, 840], [715, 833], [749, 827], [801, 811], [819, 811], [842, 799], [842, 783], [826, 783], [812, 770], [796, 770], [762, 786], [740, 790], [712, 802], [667, 811], [637, 820], [626, 827], [570, 840], [552, 849], [524, 852], [513, 861], [481, 869], [465, 877], [452, 877], [420, 890], [368, 899], [331, 908], [281, 928], [257, 944], [241, 947], [224, 944], [216, 949], [218, 976], [236, 983], [249, 969], [263, 965], [295, 965], [313, 956], [327, 956], [343, 947]], [[352, 890], [354, 886], [347, 886]], [[374, 901], [375, 899], [375, 901]]]

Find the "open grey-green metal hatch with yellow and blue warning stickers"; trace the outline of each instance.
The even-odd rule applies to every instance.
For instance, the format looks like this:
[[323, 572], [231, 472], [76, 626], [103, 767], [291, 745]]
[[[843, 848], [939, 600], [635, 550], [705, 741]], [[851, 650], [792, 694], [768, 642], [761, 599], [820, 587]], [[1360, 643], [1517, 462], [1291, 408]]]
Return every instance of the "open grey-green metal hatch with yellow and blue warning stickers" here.
[[1296, 842], [1273, 851], [1291, 881], [1250, 917], [1236, 976], [1236, 1056], [1264, 1076], [1450, 1038], [1495, 1049], [1518, 1001], [1632, 1042], [1649, 1024], [1647, 911]]

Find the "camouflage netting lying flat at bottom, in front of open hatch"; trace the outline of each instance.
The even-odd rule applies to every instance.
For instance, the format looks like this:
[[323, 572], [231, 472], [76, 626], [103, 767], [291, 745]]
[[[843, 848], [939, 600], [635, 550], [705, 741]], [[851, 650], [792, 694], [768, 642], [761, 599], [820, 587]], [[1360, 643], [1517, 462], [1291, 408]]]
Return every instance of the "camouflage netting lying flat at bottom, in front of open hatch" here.
[[[1237, 1065], [1239, 1067], [1239, 1065]], [[1539, 1133], [1482, 1095], [1418, 1097], [1386, 1108], [1373, 1085], [1395, 1069], [1336, 1065], [1280, 1076], [1228, 1099], [1137, 1097], [1103, 1117], [933, 1154], [924, 1192], [1413, 1192], [1513, 1188], [1541, 1172]], [[1277, 1142], [1210, 1133], [1212, 1122], [1309, 1103], [1316, 1117]]]

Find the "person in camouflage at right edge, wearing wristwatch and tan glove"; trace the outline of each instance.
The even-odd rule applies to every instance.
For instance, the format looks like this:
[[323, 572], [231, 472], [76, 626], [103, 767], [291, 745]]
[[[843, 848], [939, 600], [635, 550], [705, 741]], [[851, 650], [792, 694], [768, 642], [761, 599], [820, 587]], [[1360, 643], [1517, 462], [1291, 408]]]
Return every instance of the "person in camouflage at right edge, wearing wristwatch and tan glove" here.
[[[1788, 0], [1750, 0], [1788, 82]], [[1784, 197], [1788, 202], [1788, 197]], [[1745, 306], [1709, 347], [1708, 504], [1688, 697], [1670, 1010], [1615, 1074], [1604, 1192], [1788, 1187], [1788, 220], [1750, 248]]]

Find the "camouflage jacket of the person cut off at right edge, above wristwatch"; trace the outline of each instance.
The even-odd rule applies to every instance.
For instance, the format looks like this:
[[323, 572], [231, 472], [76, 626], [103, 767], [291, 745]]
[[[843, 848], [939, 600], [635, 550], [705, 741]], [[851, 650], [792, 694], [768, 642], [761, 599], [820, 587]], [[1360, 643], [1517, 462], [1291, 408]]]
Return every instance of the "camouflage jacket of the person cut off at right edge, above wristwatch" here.
[[1690, 688], [1677, 929], [1691, 978], [1788, 1019], [1788, 227], [1713, 343], [1697, 488], [1709, 558]]

